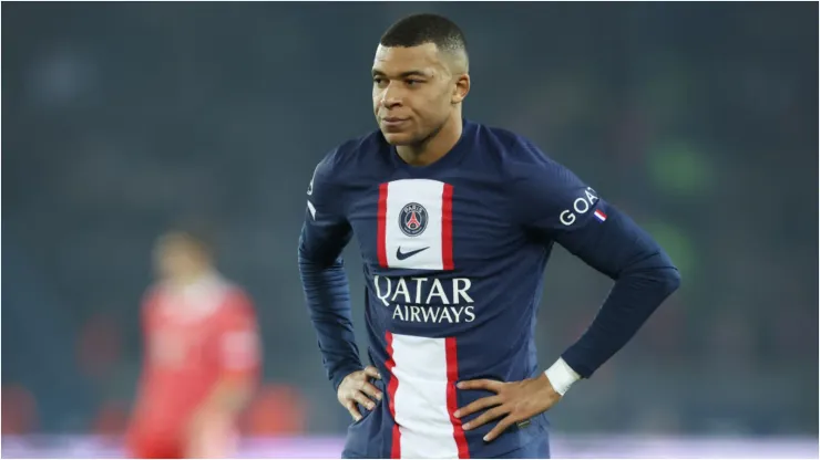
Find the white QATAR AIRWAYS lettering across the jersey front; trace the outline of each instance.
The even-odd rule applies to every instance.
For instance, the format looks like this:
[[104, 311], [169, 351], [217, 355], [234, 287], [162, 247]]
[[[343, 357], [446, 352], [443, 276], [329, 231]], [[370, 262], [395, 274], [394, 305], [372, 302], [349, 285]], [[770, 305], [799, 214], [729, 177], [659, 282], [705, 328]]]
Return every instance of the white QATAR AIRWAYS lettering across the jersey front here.
[[373, 276], [376, 296], [392, 310], [392, 320], [411, 323], [472, 323], [475, 302], [470, 288], [469, 278]]

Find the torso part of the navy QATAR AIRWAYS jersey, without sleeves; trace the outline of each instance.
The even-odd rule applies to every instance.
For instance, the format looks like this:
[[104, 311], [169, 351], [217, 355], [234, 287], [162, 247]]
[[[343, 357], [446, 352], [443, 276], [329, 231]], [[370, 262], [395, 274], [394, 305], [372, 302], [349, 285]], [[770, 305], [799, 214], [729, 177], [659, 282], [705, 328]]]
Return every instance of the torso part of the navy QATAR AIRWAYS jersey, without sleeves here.
[[486, 445], [493, 424], [464, 432], [452, 416], [488, 396], [457, 390], [457, 381], [514, 381], [537, 369], [533, 330], [549, 247], [514, 222], [506, 151], [485, 129], [465, 126], [462, 142], [424, 168], [398, 163], [378, 136], [348, 156], [346, 218], [365, 265], [370, 358], [388, 396], [351, 426], [353, 454], [484, 457], [543, 435], [539, 417]]

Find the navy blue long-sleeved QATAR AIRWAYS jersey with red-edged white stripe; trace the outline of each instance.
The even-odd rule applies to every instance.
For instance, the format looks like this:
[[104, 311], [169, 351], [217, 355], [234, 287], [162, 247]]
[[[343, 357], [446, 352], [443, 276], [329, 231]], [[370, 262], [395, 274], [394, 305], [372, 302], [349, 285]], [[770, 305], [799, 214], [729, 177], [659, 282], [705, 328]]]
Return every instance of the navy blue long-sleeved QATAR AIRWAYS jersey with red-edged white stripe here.
[[563, 354], [583, 377], [678, 282], [652, 238], [525, 138], [464, 122], [451, 151], [413, 167], [377, 130], [328, 154], [308, 189], [299, 261], [335, 387], [362, 368], [339, 258], [351, 239], [367, 280], [369, 357], [386, 398], [349, 428], [348, 457], [486, 458], [545, 436], [542, 415], [488, 443], [494, 424], [464, 431], [474, 416], [452, 414], [488, 396], [457, 389], [460, 380], [540, 373], [535, 316], [555, 242], [617, 280], [593, 326]]

